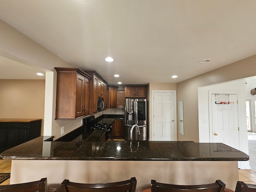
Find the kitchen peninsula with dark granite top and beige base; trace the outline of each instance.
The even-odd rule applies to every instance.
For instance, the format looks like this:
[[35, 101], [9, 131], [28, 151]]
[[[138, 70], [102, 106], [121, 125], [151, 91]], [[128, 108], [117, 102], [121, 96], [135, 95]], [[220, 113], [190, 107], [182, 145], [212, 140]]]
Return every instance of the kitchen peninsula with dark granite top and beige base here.
[[44, 177], [48, 184], [64, 179], [105, 183], [135, 176], [138, 192], [150, 186], [151, 179], [173, 184], [220, 179], [234, 190], [238, 161], [249, 160], [247, 154], [221, 143], [48, 140], [50, 136], [41, 136], [0, 154], [12, 160], [11, 184]]

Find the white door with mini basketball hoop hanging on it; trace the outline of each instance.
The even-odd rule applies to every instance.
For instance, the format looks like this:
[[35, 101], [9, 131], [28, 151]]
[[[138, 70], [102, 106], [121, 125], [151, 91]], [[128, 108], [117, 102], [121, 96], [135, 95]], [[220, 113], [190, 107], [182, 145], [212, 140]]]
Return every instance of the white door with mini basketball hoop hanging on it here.
[[212, 94], [212, 141], [239, 149], [237, 94]]

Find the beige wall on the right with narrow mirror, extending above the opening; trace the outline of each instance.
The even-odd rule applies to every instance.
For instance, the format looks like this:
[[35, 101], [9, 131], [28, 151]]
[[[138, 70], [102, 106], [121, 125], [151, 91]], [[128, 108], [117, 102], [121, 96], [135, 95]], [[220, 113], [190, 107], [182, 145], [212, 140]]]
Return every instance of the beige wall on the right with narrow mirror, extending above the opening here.
[[255, 75], [256, 55], [178, 83], [177, 102], [184, 105], [184, 135], [178, 133], [178, 140], [199, 142], [198, 87]]

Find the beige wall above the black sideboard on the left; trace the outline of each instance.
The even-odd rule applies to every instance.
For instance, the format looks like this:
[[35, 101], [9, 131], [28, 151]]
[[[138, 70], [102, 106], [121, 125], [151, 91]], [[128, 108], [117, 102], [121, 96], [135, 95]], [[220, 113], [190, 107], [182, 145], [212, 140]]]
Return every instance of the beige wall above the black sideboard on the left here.
[[38, 118], [44, 124], [45, 80], [0, 80], [0, 118]]

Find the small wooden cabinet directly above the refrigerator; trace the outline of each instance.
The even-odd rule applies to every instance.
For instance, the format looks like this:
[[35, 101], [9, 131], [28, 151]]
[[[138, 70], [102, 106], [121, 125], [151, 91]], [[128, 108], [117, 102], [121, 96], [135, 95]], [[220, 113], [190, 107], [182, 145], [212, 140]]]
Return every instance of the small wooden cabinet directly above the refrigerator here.
[[147, 98], [147, 86], [124, 86], [125, 98]]

